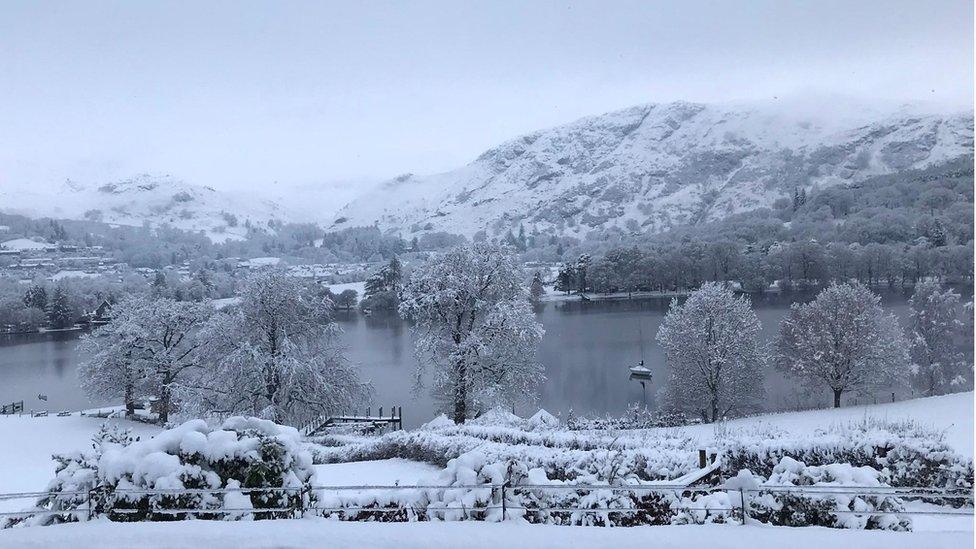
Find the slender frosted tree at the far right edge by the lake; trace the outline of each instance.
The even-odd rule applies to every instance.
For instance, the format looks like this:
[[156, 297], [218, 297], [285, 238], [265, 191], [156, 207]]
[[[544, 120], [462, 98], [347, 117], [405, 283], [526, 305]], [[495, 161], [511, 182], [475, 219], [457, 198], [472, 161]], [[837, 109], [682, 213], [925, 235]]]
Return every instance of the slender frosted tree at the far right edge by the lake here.
[[926, 395], [943, 394], [953, 386], [961, 389], [967, 365], [954, 341], [962, 326], [959, 294], [938, 282], [924, 281], [915, 286], [908, 304], [908, 342], [915, 387]]

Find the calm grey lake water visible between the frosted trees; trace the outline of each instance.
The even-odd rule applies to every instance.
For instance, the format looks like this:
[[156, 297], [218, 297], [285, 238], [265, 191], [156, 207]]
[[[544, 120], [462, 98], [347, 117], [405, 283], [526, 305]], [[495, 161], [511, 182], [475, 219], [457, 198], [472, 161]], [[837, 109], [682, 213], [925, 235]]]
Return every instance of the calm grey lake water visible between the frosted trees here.
[[[766, 295], [753, 299], [763, 337], [775, 336], [793, 300], [806, 295]], [[884, 296], [885, 305], [902, 321], [907, 299], [900, 293]], [[619, 414], [630, 403], [645, 398], [641, 386], [628, 379], [628, 368], [643, 357], [653, 371], [646, 399], [653, 404], [665, 379], [664, 357], [654, 341], [670, 298], [612, 301], [550, 302], [542, 306], [539, 318], [546, 329], [540, 358], [547, 380], [540, 404], [553, 413], [573, 409], [580, 414]], [[362, 316], [339, 312], [344, 330], [346, 356], [359, 364], [373, 382], [373, 409], [403, 407], [404, 423], [418, 425], [433, 415], [434, 403], [426, 392], [414, 394], [416, 362], [409, 324], [393, 316]], [[89, 402], [81, 391], [78, 364], [85, 356], [77, 352], [78, 332], [0, 336], [0, 403], [24, 400], [27, 409], [80, 409], [109, 402]], [[643, 351], [642, 351], [643, 349]], [[793, 387], [775, 371], [766, 372], [767, 408], [783, 409], [794, 404]], [[38, 394], [47, 395], [47, 402]], [[826, 393], [812, 395], [828, 401]], [[889, 396], [890, 398], [890, 396]], [[517, 410], [520, 414], [535, 410]]]

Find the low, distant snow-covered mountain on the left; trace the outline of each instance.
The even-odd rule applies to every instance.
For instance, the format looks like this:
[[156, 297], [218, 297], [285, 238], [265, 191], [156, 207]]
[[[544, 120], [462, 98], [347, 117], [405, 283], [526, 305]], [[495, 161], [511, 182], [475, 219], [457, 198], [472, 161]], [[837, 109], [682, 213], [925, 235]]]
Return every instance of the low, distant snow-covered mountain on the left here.
[[291, 218], [289, 212], [270, 200], [146, 174], [113, 183], [67, 181], [53, 189], [0, 189], [0, 208], [32, 217], [133, 226], [166, 224], [204, 231], [215, 242], [243, 238], [248, 222], [267, 227], [272, 219]]

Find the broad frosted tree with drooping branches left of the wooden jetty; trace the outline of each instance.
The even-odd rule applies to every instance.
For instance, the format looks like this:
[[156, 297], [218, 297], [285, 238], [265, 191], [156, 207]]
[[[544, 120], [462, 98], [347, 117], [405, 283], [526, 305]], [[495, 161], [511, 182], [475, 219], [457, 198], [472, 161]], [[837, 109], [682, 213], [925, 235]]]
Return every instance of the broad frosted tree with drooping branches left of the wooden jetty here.
[[369, 385], [338, 345], [332, 302], [284, 271], [249, 278], [240, 303], [215, 315], [203, 332], [211, 363], [186, 397], [197, 413], [301, 425], [368, 395]]

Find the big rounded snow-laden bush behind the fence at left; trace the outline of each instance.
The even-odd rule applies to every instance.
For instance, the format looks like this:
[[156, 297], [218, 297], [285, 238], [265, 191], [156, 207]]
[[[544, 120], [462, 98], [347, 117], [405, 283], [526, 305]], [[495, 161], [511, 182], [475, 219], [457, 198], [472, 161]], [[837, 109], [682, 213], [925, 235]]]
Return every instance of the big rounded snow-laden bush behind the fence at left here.
[[[93, 515], [114, 521], [179, 520], [190, 516], [180, 511], [185, 509], [213, 510], [192, 515], [201, 519], [294, 516], [309, 503], [313, 473], [311, 455], [296, 429], [244, 417], [229, 418], [217, 429], [192, 420], [146, 440], [103, 430], [92, 450], [57, 460], [57, 474], [48, 486], [55, 495], [38, 501], [36, 510], [65, 512], [16, 522], [79, 520], [81, 507], [84, 513], [88, 508], [85, 496], [71, 493], [77, 491], [93, 494]], [[251, 491], [259, 488], [281, 490]], [[184, 489], [200, 492], [145, 493]]]

